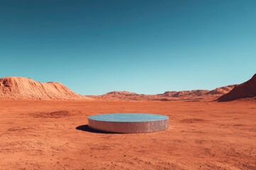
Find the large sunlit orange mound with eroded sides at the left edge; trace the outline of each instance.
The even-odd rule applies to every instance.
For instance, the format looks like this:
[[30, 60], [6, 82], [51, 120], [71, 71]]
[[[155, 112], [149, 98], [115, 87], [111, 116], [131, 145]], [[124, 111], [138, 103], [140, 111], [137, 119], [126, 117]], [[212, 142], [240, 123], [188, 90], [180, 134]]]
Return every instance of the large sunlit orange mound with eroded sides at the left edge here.
[[89, 100], [90, 98], [76, 94], [60, 83], [41, 83], [25, 77], [6, 77], [0, 79], [0, 99]]

